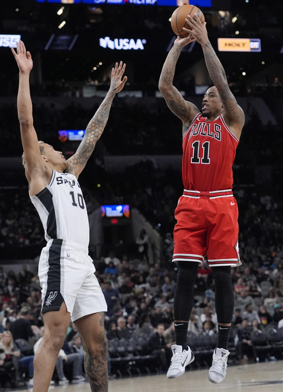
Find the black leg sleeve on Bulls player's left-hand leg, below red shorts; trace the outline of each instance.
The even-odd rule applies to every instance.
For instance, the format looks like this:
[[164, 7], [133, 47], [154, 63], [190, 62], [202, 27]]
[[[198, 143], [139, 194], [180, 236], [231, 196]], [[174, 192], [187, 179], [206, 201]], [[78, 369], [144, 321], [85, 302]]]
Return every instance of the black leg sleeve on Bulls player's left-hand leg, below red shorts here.
[[194, 282], [198, 263], [178, 261], [177, 282], [174, 294], [174, 319], [189, 321], [194, 305]]

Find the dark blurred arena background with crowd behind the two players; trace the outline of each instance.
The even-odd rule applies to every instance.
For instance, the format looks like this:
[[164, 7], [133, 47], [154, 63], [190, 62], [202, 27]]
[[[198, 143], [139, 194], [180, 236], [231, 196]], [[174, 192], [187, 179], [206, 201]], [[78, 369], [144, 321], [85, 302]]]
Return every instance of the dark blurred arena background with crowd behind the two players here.
[[[175, 39], [169, 24], [175, 7], [64, 4], [58, 14], [61, 6], [11, 0], [0, 15], [1, 33], [21, 34], [31, 51], [38, 139], [66, 157], [79, 142], [59, 138], [58, 131], [85, 129], [109, 88], [113, 62], [127, 63], [127, 85], [113, 101], [80, 185], [89, 213], [89, 253], [108, 306], [109, 377], [160, 372], [168, 367], [175, 339], [172, 232], [183, 191], [181, 123], [158, 92]], [[219, 37], [261, 39], [259, 53], [216, 49], [246, 116], [233, 165], [242, 266], [232, 269], [229, 363], [282, 359], [282, 6], [275, 0], [219, 0], [203, 10], [215, 49]], [[143, 39], [144, 50], [102, 48], [99, 38], [107, 34], [113, 40]], [[45, 240], [21, 165], [18, 69], [9, 48], [0, 47], [0, 53], [0, 387], [31, 387], [33, 356], [44, 333], [36, 271]], [[201, 107], [210, 80], [198, 44], [181, 54], [174, 84]], [[130, 218], [102, 217], [103, 205], [129, 205]], [[196, 358], [191, 367], [210, 365], [217, 333], [214, 283], [205, 260], [189, 322]], [[52, 383], [84, 380], [82, 341], [70, 323]]]

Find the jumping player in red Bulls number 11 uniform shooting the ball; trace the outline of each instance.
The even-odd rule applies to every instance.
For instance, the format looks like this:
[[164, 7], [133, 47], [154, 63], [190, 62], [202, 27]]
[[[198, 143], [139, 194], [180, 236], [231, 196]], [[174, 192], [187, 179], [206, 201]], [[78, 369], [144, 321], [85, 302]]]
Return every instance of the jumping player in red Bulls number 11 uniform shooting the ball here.
[[[228, 340], [234, 311], [231, 267], [240, 265], [238, 252], [238, 208], [232, 194], [232, 163], [245, 122], [242, 109], [227, 84], [224, 69], [214, 52], [205, 24], [188, 16], [192, 31], [177, 38], [163, 65], [159, 89], [169, 109], [183, 122], [182, 177], [184, 192], [175, 211], [174, 255], [177, 286], [174, 295], [176, 345], [167, 377], [185, 372], [194, 360], [187, 346], [187, 330], [194, 300], [198, 266], [207, 256], [215, 282], [218, 343], [209, 380], [220, 383], [226, 374]], [[192, 41], [203, 49], [214, 83], [203, 97], [202, 111], [183, 99], [172, 85], [181, 49]]]

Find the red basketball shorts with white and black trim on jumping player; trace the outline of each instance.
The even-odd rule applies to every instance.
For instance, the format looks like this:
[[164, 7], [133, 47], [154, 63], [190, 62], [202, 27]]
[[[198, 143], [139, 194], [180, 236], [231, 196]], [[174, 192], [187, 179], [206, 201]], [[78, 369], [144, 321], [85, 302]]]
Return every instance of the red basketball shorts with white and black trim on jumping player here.
[[238, 207], [232, 190], [184, 191], [175, 210], [172, 261], [197, 261], [207, 256], [210, 267], [241, 265]]

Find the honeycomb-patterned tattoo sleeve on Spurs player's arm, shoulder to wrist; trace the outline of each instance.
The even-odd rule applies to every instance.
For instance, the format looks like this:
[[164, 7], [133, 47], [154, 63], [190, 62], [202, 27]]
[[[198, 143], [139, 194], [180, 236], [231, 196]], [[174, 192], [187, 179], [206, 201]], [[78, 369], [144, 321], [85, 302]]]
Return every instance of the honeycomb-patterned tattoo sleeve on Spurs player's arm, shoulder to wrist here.
[[93, 118], [87, 125], [82, 143], [78, 147], [76, 154], [67, 161], [69, 162], [69, 167], [65, 170], [65, 172], [73, 172], [75, 165], [78, 165], [80, 169], [85, 167], [87, 160], [94, 150], [96, 142], [99, 140], [105, 128], [114, 95], [114, 92], [107, 94]]

